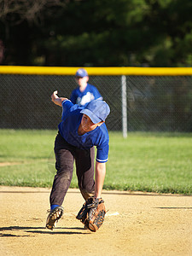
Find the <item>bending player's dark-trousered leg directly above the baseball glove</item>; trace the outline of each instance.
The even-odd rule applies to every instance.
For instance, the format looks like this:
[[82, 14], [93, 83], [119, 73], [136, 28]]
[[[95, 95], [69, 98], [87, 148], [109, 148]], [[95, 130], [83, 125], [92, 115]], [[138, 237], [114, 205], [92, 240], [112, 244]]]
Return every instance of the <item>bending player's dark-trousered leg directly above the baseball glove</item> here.
[[88, 150], [76, 150], [75, 164], [76, 172], [79, 182], [79, 189], [87, 200], [95, 192], [94, 181], [94, 162], [95, 162], [95, 148], [92, 147]]

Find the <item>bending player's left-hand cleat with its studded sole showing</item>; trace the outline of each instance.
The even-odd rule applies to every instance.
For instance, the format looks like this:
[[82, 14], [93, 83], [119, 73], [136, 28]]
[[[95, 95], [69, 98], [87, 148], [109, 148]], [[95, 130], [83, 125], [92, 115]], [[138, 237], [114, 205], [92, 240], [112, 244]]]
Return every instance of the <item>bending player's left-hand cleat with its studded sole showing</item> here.
[[55, 207], [55, 209], [49, 211], [49, 215], [46, 221], [46, 228], [49, 230], [53, 230], [55, 228], [56, 223], [61, 218], [63, 214], [63, 207]]

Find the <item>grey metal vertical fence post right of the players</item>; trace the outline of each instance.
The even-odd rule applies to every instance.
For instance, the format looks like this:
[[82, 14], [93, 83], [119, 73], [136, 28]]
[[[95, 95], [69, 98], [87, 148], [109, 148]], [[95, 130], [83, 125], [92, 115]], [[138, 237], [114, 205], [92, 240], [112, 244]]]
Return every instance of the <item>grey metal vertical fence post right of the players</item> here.
[[127, 106], [126, 106], [126, 77], [121, 76], [121, 98], [122, 98], [122, 131], [123, 137], [127, 137]]

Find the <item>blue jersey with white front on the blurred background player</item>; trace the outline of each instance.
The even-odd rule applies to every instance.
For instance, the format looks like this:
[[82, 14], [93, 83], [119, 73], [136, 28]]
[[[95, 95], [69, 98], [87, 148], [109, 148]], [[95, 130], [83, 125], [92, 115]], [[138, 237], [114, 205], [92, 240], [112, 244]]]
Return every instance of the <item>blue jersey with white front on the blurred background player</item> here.
[[96, 99], [102, 100], [102, 96], [96, 87], [91, 84], [87, 84], [84, 91], [80, 91], [79, 87], [74, 89], [70, 98], [73, 104], [78, 104], [79, 106], [84, 106], [86, 103]]

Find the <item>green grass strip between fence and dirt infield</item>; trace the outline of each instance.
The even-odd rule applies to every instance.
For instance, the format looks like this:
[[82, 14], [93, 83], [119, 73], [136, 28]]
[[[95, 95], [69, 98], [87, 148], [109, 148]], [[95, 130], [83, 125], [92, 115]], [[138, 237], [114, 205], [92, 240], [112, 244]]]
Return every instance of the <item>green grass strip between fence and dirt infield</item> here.
[[[0, 184], [51, 187], [57, 131], [0, 130]], [[192, 134], [109, 132], [104, 189], [192, 195]], [[78, 188], [73, 172], [71, 188]]]

